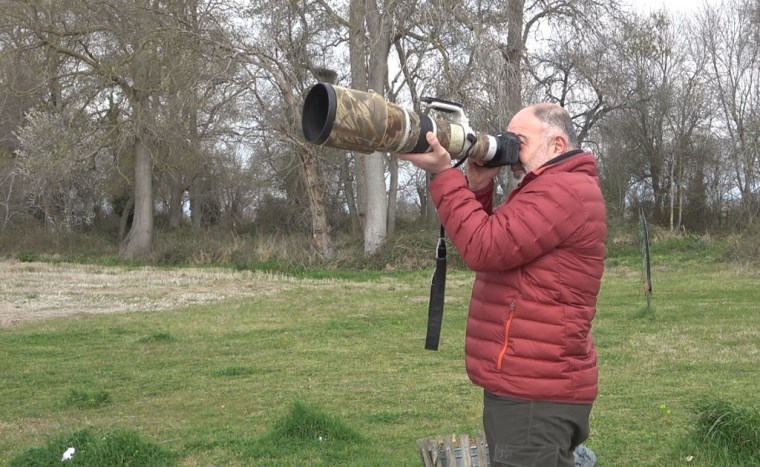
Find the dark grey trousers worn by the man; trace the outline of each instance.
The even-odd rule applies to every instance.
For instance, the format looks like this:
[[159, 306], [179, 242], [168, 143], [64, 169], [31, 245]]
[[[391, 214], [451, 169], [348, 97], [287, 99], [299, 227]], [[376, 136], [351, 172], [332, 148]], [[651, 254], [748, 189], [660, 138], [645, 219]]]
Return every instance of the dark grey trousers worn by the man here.
[[492, 467], [573, 467], [589, 435], [591, 405], [499, 397], [485, 391], [483, 428]]

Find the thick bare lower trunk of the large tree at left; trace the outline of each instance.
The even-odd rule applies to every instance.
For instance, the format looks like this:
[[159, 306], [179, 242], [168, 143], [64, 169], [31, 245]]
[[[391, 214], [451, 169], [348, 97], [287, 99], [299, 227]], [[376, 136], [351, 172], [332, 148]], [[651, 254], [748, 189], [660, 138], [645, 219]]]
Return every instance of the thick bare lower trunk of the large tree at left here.
[[135, 142], [135, 215], [121, 247], [127, 259], [143, 258], [153, 247], [153, 161], [140, 135]]

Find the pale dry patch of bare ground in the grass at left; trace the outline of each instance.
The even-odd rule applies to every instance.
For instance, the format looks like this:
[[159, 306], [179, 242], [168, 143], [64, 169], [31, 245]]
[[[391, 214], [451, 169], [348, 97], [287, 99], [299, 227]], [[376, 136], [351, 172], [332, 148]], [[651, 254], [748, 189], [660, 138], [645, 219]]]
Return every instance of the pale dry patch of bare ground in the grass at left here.
[[78, 314], [159, 311], [252, 297], [296, 281], [224, 269], [121, 268], [0, 260], [0, 326]]

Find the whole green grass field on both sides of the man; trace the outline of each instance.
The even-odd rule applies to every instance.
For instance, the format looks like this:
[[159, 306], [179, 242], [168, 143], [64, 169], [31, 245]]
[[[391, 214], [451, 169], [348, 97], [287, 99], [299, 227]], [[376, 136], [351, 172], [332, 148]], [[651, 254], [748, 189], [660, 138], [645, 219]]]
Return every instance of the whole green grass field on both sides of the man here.
[[[438, 352], [423, 349], [429, 280], [252, 274], [221, 303], [6, 325], [0, 464], [129, 438], [157, 465], [419, 465], [418, 438], [480, 431], [463, 363], [472, 274], [450, 273]], [[689, 438], [693, 408], [760, 406], [759, 283], [757, 268], [655, 256], [647, 310], [635, 261], [611, 262], [586, 442], [598, 465], [715, 465]]]

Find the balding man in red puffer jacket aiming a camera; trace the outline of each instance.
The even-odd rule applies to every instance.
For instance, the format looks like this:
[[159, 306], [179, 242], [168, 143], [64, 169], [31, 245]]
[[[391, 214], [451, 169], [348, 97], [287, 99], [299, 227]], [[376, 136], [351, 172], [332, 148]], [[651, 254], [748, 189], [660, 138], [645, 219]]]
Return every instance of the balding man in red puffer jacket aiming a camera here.
[[572, 467], [598, 392], [591, 321], [604, 199], [594, 156], [577, 149], [565, 109], [524, 108], [507, 130], [520, 138], [526, 174], [495, 209], [499, 168], [468, 161], [465, 178], [433, 133], [430, 152], [395, 156], [435, 175], [438, 216], [476, 272], [465, 353], [470, 379], [484, 388], [491, 465]]

